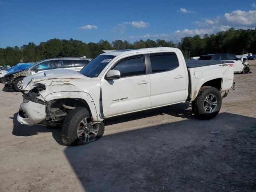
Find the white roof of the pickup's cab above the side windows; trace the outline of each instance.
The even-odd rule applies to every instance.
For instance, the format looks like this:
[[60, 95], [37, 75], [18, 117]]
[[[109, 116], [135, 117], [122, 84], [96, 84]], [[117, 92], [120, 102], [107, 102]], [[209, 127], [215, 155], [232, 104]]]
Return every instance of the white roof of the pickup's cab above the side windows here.
[[172, 47], [156, 47], [156, 48], [143, 48], [143, 49], [124, 49], [124, 50], [117, 50], [117, 51], [111, 51], [103, 53], [102, 55], [126, 55], [126, 54], [132, 54], [132, 53], [143, 53], [143, 52], [150, 52], [150, 51], [180, 51], [177, 48]]

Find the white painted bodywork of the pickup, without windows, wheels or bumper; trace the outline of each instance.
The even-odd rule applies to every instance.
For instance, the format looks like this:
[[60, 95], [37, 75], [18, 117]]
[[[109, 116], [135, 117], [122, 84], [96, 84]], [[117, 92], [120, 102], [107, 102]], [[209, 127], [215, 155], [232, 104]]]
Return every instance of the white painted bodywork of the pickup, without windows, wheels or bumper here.
[[[123, 58], [138, 54], [175, 52], [179, 67], [167, 72], [106, 80], [107, 72]], [[108, 52], [114, 55], [107, 66], [95, 78], [88, 78], [67, 69], [55, 69], [24, 78], [24, 90], [44, 84], [46, 89], [37, 98], [48, 102], [59, 98], [81, 98], [91, 110], [94, 122], [121, 114], [190, 101], [196, 98], [200, 87], [209, 80], [222, 79], [221, 90], [229, 90], [233, 83], [233, 64], [219, 64], [187, 69], [182, 52], [177, 48], [147, 48], [124, 52]], [[147, 83], [140, 83], [147, 82]], [[190, 89], [189, 89], [190, 86]], [[190, 90], [190, 92], [188, 92]]]

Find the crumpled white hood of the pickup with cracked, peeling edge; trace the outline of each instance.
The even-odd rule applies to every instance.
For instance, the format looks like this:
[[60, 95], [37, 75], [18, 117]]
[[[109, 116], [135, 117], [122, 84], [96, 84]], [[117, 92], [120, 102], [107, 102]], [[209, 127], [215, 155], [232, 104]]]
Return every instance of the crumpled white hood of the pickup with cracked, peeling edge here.
[[33, 88], [37, 87], [38, 84], [44, 84], [45, 86], [61, 86], [70, 84], [70, 80], [85, 78], [87, 77], [79, 72], [68, 69], [47, 70], [45, 72], [25, 77], [23, 79], [23, 90], [32, 90]]

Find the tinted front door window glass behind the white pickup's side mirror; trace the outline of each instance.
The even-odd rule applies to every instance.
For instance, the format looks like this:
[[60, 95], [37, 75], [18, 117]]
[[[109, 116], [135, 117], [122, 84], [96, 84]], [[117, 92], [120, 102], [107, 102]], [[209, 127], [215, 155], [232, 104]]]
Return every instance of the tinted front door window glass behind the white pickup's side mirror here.
[[118, 62], [113, 69], [120, 71], [121, 77], [144, 75], [144, 57], [140, 55], [126, 58], [125, 60]]

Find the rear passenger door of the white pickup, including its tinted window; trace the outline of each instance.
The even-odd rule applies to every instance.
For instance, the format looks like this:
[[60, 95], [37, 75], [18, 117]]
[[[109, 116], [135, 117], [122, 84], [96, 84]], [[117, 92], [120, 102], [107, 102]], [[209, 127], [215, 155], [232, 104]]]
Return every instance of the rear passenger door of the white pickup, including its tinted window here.
[[[186, 100], [186, 72], [177, 52], [150, 54], [150, 98], [152, 107], [164, 106]], [[181, 63], [181, 64], [180, 64]]]

